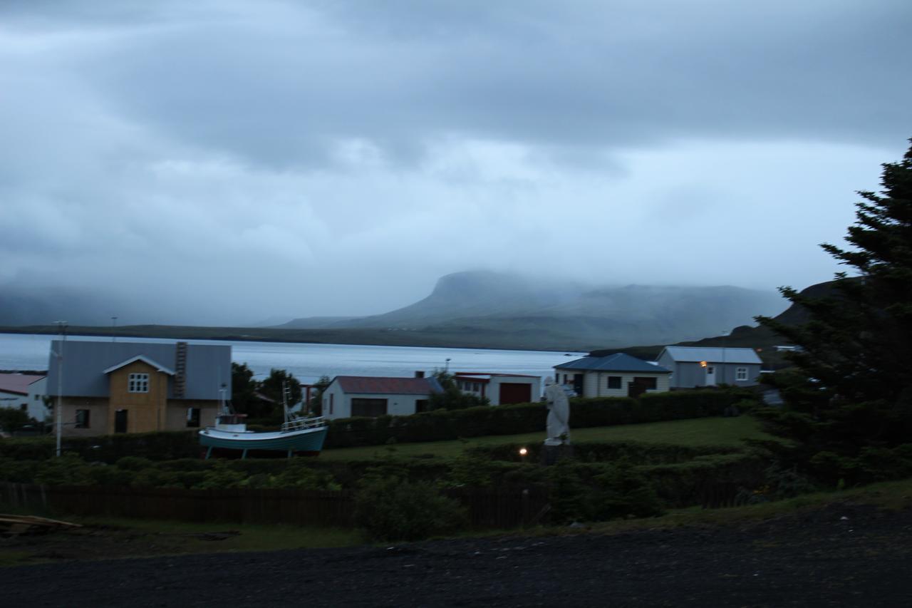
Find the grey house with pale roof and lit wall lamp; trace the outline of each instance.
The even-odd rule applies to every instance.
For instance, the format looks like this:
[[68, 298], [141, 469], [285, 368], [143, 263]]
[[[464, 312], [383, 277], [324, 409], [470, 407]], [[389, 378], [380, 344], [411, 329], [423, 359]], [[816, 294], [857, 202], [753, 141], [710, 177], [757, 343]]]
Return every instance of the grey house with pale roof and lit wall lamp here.
[[672, 388], [754, 386], [762, 364], [753, 349], [702, 346], [666, 346], [657, 361], [671, 370]]

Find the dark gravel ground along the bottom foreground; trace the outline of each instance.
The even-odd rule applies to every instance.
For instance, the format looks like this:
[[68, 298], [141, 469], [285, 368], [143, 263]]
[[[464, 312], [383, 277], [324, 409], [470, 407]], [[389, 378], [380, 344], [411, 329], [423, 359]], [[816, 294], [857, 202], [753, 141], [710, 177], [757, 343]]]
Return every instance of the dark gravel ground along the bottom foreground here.
[[912, 606], [912, 510], [0, 569], [13, 606]]

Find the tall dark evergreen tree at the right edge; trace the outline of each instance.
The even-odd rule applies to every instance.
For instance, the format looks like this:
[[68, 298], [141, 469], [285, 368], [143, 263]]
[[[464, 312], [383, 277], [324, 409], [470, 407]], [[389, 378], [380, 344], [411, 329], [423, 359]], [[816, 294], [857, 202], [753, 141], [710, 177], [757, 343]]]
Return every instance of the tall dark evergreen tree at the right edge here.
[[837, 273], [824, 298], [781, 288], [807, 310], [801, 326], [757, 318], [803, 348], [773, 377], [785, 407], [762, 417], [818, 473], [834, 462], [857, 472], [872, 450], [912, 444], [912, 148], [883, 168], [881, 193], [858, 193], [850, 247], [822, 245], [852, 275]]

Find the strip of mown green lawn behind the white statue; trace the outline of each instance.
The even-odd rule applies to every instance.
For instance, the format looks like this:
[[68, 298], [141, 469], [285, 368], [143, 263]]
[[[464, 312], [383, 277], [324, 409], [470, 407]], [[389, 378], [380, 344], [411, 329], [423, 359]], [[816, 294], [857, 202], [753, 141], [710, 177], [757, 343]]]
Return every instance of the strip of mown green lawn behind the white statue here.
[[[770, 439], [751, 416], [737, 418], [694, 418], [640, 425], [597, 426], [573, 429], [571, 439], [586, 441], [643, 441], [679, 446], [741, 446], [745, 439]], [[523, 435], [488, 435], [457, 441], [435, 441], [395, 446], [337, 447], [326, 449], [321, 460], [369, 460], [389, 456], [424, 456], [451, 458], [475, 446], [498, 446], [544, 441], [541, 433]]]

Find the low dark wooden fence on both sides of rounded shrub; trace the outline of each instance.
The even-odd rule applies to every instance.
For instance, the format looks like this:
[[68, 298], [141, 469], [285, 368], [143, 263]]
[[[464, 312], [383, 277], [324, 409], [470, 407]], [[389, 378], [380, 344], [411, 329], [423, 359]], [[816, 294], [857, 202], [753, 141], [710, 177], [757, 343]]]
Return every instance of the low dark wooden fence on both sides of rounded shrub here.
[[[466, 507], [474, 529], [510, 529], [541, 523], [545, 490], [455, 488], [445, 494]], [[351, 527], [354, 499], [347, 490], [213, 489], [46, 486], [0, 483], [0, 503], [73, 515], [138, 519], [282, 523]]]

